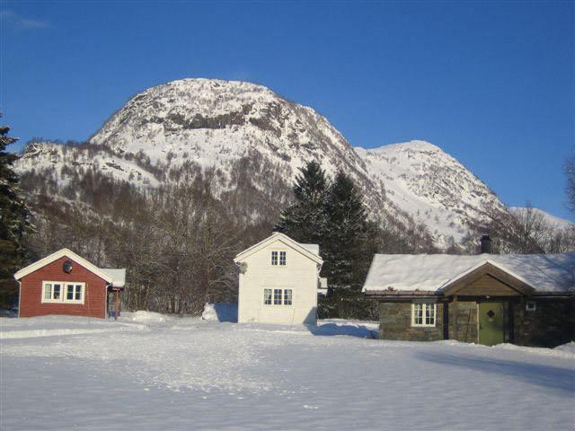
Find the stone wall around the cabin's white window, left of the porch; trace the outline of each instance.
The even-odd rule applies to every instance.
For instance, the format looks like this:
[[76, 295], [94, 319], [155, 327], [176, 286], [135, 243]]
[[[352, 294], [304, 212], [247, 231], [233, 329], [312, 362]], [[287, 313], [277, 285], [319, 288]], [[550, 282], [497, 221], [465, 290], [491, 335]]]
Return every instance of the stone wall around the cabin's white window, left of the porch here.
[[379, 303], [379, 338], [409, 341], [443, 339], [443, 303], [438, 303], [434, 328], [411, 327], [411, 302]]

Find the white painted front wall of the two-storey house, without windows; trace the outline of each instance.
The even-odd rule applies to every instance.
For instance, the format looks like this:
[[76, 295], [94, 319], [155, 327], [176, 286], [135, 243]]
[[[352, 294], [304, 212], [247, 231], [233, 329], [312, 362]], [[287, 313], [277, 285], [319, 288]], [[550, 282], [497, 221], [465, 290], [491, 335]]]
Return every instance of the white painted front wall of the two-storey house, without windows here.
[[[318, 264], [280, 235], [274, 238], [261, 250], [241, 259], [247, 263], [247, 270], [240, 274], [238, 321], [315, 324]], [[271, 251], [286, 251], [287, 265], [271, 265]], [[264, 304], [264, 289], [292, 289], [292, 305]]]

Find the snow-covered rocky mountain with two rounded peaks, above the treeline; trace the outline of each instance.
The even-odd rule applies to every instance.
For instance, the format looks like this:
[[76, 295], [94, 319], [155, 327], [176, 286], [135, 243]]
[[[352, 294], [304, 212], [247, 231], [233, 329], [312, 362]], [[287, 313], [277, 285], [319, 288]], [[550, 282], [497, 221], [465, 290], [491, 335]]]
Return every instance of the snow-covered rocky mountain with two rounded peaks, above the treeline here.
[[330, 175], [348, 172], [374, 216], [427, 224], [439, 245], [449, 236], [461, 238], [485, 205], [503, 208], [491, 189], [435, 145], [354, 148], [311, 108], [261, 85], [208, 79], [141, 92], [88, 144], [28, 145], [16, 169], [49, 172], [55, 183], [72, 186], [93, 170], [142, 188], [209, 171], [219, 198], [238, 188], [253, 190], [257, 197], [245, 209], [257, 217], [258, 208], [250, 205], [286, 205], [297, 169], [312, 159]]

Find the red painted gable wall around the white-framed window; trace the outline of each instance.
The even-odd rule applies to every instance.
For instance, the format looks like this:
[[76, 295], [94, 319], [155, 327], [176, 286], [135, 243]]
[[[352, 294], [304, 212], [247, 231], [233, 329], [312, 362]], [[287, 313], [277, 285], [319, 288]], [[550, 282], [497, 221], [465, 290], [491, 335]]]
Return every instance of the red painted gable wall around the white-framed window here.
[[[62, 264], [72, 262], [66, 274]], [[20, 317], [65, 314], [70, 316], [106, 317], [106, 281], [84, 268], [74, 259], [63, 257], [20, 280]], [[42, 303], [42, 281], [76, 281], [85, 283], [84, 303]]]

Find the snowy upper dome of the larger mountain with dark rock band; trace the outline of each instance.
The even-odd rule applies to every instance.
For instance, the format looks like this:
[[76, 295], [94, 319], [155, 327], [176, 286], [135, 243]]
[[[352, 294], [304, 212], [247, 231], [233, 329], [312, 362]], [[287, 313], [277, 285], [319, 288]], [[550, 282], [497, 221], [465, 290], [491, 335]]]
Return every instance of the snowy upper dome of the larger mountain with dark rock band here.
[[90, 139], [114, 152], [144, 152], [153, 163], [191, 159], [225, 170], [245, 154], [260, 154], [294, 178], [307, 160], [333, 174], [363, 173], [341, 133], [311, 108], [261, 85], [184, 79], [137, 94]]

